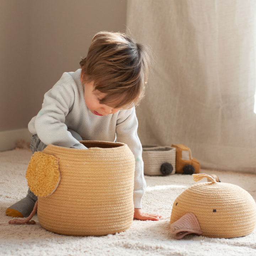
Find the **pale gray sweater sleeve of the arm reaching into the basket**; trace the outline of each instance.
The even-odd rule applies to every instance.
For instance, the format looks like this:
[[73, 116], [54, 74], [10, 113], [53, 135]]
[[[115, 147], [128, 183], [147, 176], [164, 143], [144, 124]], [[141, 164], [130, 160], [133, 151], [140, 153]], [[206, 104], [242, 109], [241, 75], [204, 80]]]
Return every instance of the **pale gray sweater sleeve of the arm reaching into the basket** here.
[[[64, 79], [65, 78], [65, 79]], [[74, 80], [68, 74], [44, 94], [42, 108], [28, 124], [30, 131], [36, 131], [40, 140], [46, 144], [53, 144], [67, 148], [86, 148], [68, 131], [65, 117], [73, 107], [75, 100]]]

